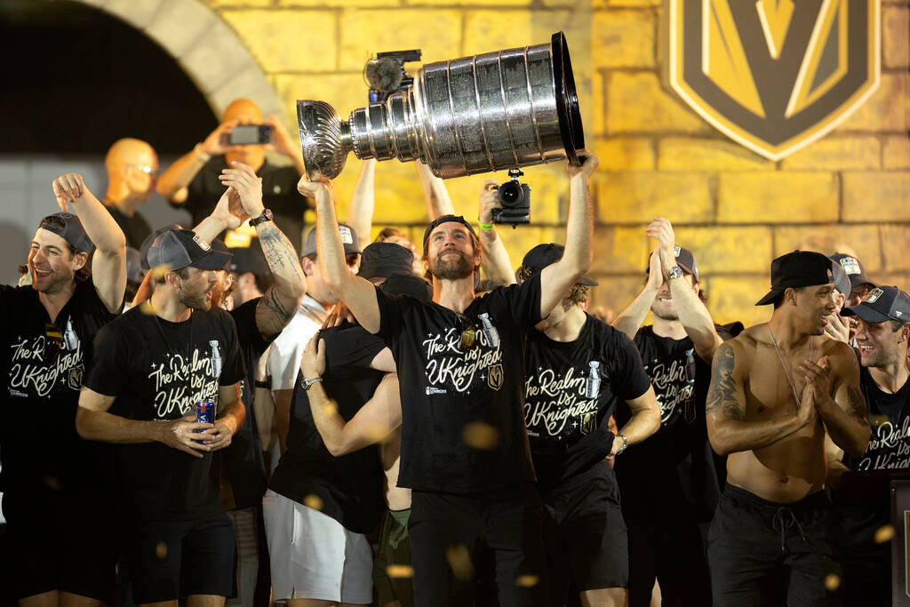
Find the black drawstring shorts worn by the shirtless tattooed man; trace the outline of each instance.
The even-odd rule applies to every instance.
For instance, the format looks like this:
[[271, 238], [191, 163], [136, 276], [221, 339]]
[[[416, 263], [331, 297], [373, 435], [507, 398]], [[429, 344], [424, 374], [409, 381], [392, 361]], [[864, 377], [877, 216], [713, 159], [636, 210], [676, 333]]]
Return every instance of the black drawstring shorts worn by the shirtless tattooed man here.
[[714, 605], [840, 605], [843, 531], [824, 491], [777, 503], [728, 484], [708, 533]]

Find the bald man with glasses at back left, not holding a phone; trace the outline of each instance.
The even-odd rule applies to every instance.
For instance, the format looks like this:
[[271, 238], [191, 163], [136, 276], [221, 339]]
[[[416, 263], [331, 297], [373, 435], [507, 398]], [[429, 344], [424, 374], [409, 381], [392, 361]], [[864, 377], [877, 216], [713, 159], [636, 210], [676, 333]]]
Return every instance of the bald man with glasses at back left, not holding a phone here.
[[145, 141], [125, 137], [107, 150], [105, 167], [107, 212], [126, 235], [126, 246], [142, 248], [152, 228], [136, 208], [147, 203], [155, 191], [158, 155]]

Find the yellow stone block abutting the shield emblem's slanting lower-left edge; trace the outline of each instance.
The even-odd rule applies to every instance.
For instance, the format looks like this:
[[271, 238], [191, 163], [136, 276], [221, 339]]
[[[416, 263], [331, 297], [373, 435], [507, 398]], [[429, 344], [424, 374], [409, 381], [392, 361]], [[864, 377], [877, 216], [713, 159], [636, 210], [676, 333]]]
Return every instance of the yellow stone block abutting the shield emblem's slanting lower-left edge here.
[[663, 90], [651, 72], [613, 72], [607, 82], [607, 132], [708, 133], [711, 127]]

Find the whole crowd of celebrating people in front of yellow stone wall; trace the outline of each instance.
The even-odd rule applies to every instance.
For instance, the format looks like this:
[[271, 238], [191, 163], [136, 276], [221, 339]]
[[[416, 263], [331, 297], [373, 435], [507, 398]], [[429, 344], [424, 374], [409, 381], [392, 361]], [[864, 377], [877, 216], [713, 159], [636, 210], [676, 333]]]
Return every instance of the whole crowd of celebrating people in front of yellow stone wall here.
[[[225, 143], [251, 124], [273, 143]], [[160, 176], [122, 139], [102, 200], [56, 178], [60, 211], [0, 287], [5, 601], [890, 604], [910, 296], [850, 251], [798, 250], [769, 260], [769, 322], [718, 325], [654, 218], [642, 289], [607, 322], [586, 276], [598, 163], [567, 166], [565, 245], [517, 269], [494, 182], [464, 218], [415, 163], [422, 243], [370, 241], [375, 161], [339, 223], [246, 99]], [[152, 230], [156, 187], [190, 226]]]

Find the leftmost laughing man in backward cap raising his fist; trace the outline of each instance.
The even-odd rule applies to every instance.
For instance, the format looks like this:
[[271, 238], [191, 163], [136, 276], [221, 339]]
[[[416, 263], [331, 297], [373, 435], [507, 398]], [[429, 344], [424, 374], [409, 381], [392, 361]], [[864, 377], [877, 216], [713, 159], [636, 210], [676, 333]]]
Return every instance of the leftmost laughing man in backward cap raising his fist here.
[[21, 605], [89, 607], [113, 598], [115, 553], [107, 476], [73, 418], [96, 332], [123, 306], [126, 238], [81, 175], [53, 188], [62, 212], [35, 230], [31, 286], [0, 286], [5, 574]]

